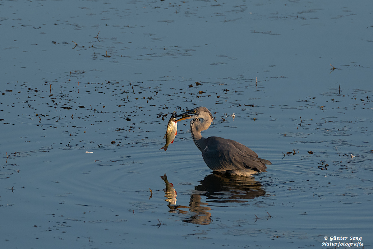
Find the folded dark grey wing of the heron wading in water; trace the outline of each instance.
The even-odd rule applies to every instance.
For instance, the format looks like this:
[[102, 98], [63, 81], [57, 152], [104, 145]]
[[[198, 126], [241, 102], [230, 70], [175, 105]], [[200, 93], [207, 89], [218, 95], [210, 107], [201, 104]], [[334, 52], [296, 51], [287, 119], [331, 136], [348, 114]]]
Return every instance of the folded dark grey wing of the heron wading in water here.
[[258, 158], [254, 151], [231, 139], [207, 138], [202, 157], [207, 166], [214, 171], [250, 168], [263, 172], [267, 168], [263, 159]]

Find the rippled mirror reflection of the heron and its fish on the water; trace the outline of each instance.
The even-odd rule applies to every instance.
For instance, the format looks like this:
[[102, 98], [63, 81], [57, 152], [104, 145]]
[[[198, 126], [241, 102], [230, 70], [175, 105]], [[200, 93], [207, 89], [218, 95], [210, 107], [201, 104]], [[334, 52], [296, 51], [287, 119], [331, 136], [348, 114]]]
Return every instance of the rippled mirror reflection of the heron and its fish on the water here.
[[[208, 205], [219, 206], [217, 203], [248, 202], [249, 199], [266, 194], [260, 182], [257, 182], [254, 177], [212, 173], [194, 187], [195, 193], [190, 195], [189, 206], [181, 206], [176, 205], [176, 190], [173, 184], [168, 182], [166, 173], [161, 178], [166, 183], [164, 192], [167, 198], [165, 201], [169, 203], [167, 205], [170, 208], [169, 212], [186, 214], [188, 211], [183, 209], [189, 209], [193, 215], [183, 221], [199, 225], [208, 225], [212, 222], [211, 208]], [[201, 196], [206, 196], [207, 202], [202, 202]]]

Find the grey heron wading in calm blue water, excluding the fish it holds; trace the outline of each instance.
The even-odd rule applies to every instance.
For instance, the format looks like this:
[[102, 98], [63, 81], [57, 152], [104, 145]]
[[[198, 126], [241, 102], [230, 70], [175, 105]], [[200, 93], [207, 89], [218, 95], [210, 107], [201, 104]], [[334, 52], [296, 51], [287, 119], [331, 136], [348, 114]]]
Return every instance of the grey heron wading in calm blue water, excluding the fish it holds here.
[[251, 176], [265, 172], [270, 161], [259, 158], [251, 149], [231, 139], [210, 136], [204, 138], [201, 131], [207, 130], [213, 122], [213, 116], [206, 107], [197, 107], [175, 116], [176, 121], [192, 119], [190, 133], [207, 166], [213, 171], [239, 176]]

